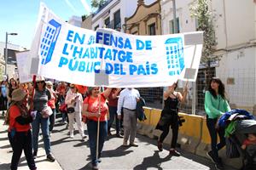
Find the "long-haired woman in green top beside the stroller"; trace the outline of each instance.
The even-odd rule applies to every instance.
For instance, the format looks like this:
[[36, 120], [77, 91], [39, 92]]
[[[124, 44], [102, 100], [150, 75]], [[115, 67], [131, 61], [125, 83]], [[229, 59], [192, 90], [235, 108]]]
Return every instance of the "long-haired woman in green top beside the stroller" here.
[[[226, 111], [231, 111], [230, 105], [225, 98], [225, 88], [224, 83], [217, 77], [212, 77], [208, 91], [205, 95], [205, 110], [207, 112], [207, 127], [211, 136], [211, 146], [212, 150], [207, 152], [212, 161], [215, 163], [215, 167], [218, 169], [223, 169], [223, 164], [221, 159], [218, 157], [218, 150], [224, 147], [224, 129], [216, 129], [216, 123], [218, 117], [222, 116]], [[220, 142], [217, 144], [217, 133]]]

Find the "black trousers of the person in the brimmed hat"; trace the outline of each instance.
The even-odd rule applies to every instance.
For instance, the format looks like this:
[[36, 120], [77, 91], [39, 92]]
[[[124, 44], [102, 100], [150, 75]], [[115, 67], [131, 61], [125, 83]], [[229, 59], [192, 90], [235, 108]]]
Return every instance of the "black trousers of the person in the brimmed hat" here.
[[37, 169], [34, 158], [32, 156], [32, 133], [31, 130], [27, 132], [15, 132], [15, 135], [12, 136], [11, 133], [8, 133], [9, 143], [13, 149], [13, 156], [11, 161], [11, 170], [16, 170], [19, 165], [20, 156], [22, 150], [26, 156], [26, 162], [30, 169]]

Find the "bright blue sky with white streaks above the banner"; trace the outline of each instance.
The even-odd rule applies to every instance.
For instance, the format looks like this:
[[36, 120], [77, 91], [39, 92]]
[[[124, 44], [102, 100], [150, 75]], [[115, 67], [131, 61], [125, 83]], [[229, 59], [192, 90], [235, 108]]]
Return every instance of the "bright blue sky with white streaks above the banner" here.
[[38, 20], [39, 4], [43, 2], [62, 20], [73, 15], [90, 14], [90, 0], [0, 0], [0, 42], [5, 42], [6, 32], [18, 33], [8, 36], [8, 42], [30, 48]]

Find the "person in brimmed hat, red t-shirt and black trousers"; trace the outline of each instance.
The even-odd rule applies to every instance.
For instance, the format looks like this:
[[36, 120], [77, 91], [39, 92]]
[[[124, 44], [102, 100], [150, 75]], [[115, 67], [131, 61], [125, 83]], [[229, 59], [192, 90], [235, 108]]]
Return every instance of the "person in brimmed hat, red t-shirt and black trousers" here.
[[12, 93], [11, 104], [7, 111], [6, 123], [9, 124], [8, 137], [13, 149], [10, 168], [17, 169], [22, 150], [25, 152], [26, 161], [30, 169], [37, 169], [32, 156], [32, 133], [30, 123], [32, 116], [26, 108], [27, 94], [22, 89], [16, 89]]

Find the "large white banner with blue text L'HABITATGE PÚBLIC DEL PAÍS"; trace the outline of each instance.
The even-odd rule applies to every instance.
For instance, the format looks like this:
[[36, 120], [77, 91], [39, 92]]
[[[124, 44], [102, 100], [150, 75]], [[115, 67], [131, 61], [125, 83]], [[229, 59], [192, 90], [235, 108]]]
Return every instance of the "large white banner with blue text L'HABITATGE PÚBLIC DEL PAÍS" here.
[[44, 9], [36, 35], [39, 45], [32, 48], [38, 54], [34, 56], [37, 75], [119, 88], [168, 86], [178, 78], [195, 81], [202, 32], [135, 36], [109, 29], [90, 31], [71, 26]]

